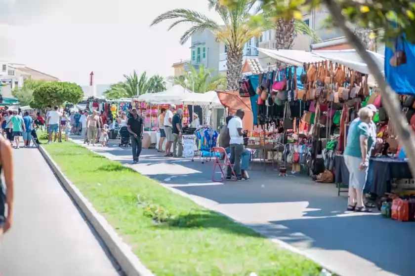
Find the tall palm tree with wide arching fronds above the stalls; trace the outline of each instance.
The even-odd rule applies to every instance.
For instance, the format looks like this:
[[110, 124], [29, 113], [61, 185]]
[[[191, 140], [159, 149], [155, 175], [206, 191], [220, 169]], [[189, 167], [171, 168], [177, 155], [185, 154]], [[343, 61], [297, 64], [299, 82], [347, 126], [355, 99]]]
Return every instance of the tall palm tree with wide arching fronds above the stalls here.
[[[180, 23], [191, 23], [190, 27], [180, 38], [180, 43], [184, 44], [195, 32], [209, 30], [215, 34], [218, 41], [222, 41], [228, 48], [226, 57], [226, 64], [228, 70], [227, 88], [236, 89], [238, 87], [238, 80], [242, 76], [242, 58], [245, 44], [249, 39], [260, 37], [263, 31], [280, 28], [282, 24], [275, 22], [270, 17], [267, 17], [266, 24], [256, 24], [252, 15], [261, 13], [261, 3], [257, 0], [238, 0], [233, 1], [232, 8], [225, 7], [220, 4], [220, 0], [207, 0], [209, 8], [213, 8], [221, 17], [224, 25], [219, 25], [215, 21], [209, 19], [207, 16], [193, 10], [179, 8], [167, 11], [159, 15], [153, 20], [151, 26], [156, 25], [167, 19], [175, 19], [168, 30]], [[263, 14], [264, 17], [267, 14]], [[291, 22], [292, 21], [292, 22]], [[292, 27], [291, 36], [295, 32], [304, 32], [305, 34], [316, 37], [315, 33], [302, 20], [291, 20], [288, 24]], [[257, 26], [255, 26], [257, 25]], [[290, 30], [291, 30], [290, 29]], [[277, 29], [278, 31], [279, 29]], [[284, 32], [284, 38], [289, 34]], [[286, 44], [286, 42], [284, 42]], [[291, 41], [292, 44], [292, 41]]]

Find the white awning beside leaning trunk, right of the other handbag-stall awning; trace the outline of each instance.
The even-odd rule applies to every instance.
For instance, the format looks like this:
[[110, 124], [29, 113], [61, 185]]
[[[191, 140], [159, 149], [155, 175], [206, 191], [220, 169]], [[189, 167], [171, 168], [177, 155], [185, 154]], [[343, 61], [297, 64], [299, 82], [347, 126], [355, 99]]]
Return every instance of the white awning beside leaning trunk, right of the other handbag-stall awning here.
[[[376, 62], [380, 72], [384, 74], [385, 56], [366, 50]], [[356, 50], [328, 50], [328, 51], [312, 51], [312, 54], [323, 59], [331, 60], [332, 62], [340, 63], [350, 69], [356, 70], [363, 74], [370, 74], [369, 68], [362, 60]]]

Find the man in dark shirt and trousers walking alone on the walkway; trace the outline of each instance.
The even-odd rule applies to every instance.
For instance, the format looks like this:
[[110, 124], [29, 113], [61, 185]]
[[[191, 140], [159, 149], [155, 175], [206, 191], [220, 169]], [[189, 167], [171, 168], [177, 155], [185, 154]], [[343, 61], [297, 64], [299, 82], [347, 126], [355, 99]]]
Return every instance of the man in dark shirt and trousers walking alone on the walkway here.
[[131, 137], [132, 162], [136, 164], [141, 153], [141, 140], [143, 139], [143, 118], [137, 115], [137, 110], [131, 110], [132, 116], [127, 121], [127, 129]]

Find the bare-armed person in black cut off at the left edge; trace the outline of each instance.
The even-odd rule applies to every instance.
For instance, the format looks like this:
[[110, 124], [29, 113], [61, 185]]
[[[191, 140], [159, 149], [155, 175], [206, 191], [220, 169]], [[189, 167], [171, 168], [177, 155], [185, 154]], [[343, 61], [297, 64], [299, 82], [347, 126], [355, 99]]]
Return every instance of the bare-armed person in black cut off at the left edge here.
[[[4, 184], [0, 178], [0, 240], [12, 226], [14, 211], [14, 172], [13, 155], [10, 143], [0, 137], [0, 173], [3, 172]], [[7, 216], [5, 214], [7, 206]]]

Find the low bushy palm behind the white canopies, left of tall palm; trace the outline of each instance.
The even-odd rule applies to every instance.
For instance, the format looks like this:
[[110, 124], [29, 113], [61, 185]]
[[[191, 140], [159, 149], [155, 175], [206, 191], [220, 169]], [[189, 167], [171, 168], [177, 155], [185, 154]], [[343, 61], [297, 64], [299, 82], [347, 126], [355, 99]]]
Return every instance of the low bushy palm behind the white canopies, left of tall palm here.
[[199, 66], [199, 70], [191, 64], [187, 65], [189, 71], [180, 77], [173, 77], [173, 84], [180, 84], [181, 86], [196, 93], [205, 93], [211, 90], [221, 90], [226, 87], [226, 76], [217, 75], [211, 77], [213, 69], [206, 69], [203, 65]]

